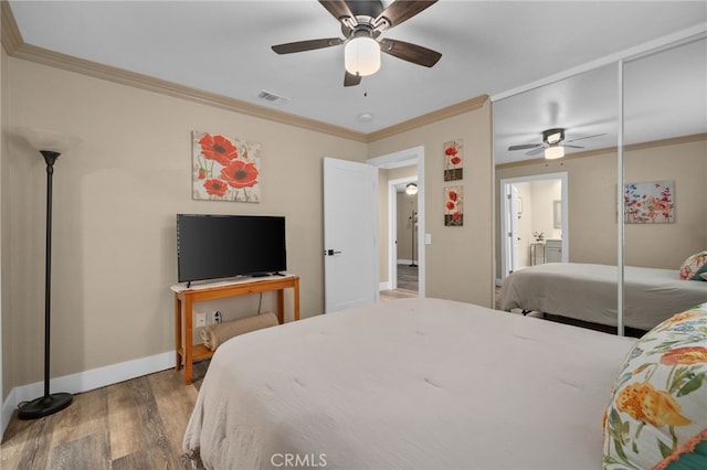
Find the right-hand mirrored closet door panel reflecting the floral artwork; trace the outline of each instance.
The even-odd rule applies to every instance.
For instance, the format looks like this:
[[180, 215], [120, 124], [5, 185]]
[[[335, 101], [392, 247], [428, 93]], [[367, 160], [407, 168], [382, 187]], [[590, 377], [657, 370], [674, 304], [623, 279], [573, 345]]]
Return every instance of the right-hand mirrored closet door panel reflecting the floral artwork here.
[[707, 301], [680, 279], [707, 249], [707, 40], [626, 61], [623, 79], [624, 323], [650, 329]]

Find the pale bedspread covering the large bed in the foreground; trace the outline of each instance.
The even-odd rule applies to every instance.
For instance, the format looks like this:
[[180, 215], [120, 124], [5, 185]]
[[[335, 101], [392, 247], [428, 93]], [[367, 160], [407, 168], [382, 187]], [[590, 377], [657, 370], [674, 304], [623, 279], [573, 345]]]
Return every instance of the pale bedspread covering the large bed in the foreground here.
[[633, 341], [439, 299], [286, 323], [219, 348], [183, 446], [210, 469], [600, 469]]

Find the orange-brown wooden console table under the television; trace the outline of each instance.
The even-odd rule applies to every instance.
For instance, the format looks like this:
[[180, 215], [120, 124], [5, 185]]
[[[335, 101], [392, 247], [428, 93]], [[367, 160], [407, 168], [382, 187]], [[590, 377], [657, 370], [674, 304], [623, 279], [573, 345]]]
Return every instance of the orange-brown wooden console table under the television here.
[[[176, 325], [176, 371], [184, 366], [184, 384], [191, 384], [192, 364], [197, 361], [209, 359], [213, 351], [201, 343], [192, 344], [194, 302], [222, 299], [225, 297], [243, 296], [246, 293], [277, 291], [277, 320], [285, 322], [285, 292], [284, 289], [294, 290], [294, 319], [299, 320], [299, 277], [285, 275], [266, 278], [247, 278], [229, 284], [204, 285], [191, 288], [172, 286], [175, 291], [175, 325]], [[182, 321], [183, 320], [183, 321]]]

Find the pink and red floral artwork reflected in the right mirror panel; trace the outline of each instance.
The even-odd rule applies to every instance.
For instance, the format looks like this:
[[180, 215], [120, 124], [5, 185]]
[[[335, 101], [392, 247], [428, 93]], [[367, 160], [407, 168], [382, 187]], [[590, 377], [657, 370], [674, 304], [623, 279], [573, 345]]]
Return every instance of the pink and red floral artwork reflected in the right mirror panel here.
[[675, 222], [674, 182], [625, 184], [623, 204], [625, 224], [671, 224]]

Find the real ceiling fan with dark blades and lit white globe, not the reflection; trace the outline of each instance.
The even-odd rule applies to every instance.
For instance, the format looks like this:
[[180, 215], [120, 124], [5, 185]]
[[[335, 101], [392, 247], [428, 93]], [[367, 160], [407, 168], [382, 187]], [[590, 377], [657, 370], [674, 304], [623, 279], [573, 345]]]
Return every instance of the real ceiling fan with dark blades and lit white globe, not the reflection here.
[[382, 38], [380, 34], [410, 20], [437, 0], [395, 0], [388, 8], [379, 0], [319, 0], [339, 23], [344, 38], [326, 38], [273, 45], [278, 54], [313, 51], [346, 44], [344, 86], [361, 83], [361, 77], [380, 68], [380, 52], [413, 64], [432, 67], [442, 54], [421, 45]]

